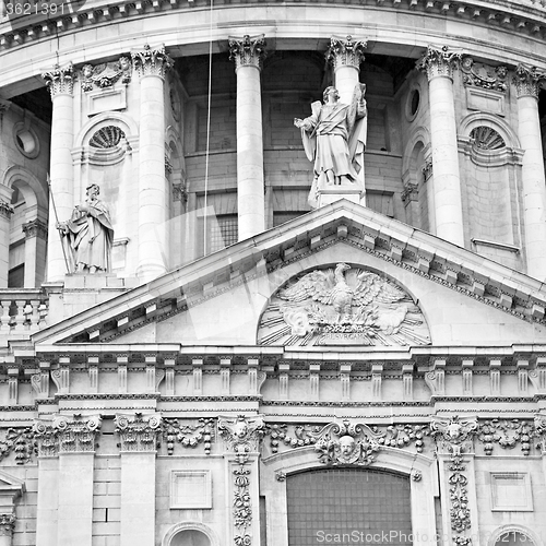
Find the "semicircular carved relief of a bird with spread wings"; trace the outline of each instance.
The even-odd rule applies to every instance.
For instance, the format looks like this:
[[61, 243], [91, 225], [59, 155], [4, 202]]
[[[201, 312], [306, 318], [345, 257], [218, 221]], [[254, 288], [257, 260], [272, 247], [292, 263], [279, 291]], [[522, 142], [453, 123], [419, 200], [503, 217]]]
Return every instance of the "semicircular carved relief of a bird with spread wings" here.
[[427, 345], [419, 307], [394, 282], [337, 263], [290, 278], [271, 297], [260, 345]]

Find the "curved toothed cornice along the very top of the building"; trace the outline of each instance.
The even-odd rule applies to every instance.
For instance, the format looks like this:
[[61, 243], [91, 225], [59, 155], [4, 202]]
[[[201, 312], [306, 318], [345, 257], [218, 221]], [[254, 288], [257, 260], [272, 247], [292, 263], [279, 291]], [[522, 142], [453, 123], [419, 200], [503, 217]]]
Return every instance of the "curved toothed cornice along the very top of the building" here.
[[[229, 2], [233, 9], [238, 2]], [[248, 7], [248, 2], [240, 2]], [[308, 3], [321, 4], [319, 0], [308, 0]], [[508, 0], [485, 1], [443, 1], [443, 0], [368, 0], [365, 5], [360, 0], [339, 1], [343, 7], [352, 3], [360, 9], [378, 8], [382, 10], [395, 9], [414, 13], [429, 13], [458, 21], [467, 21], [494, 26], [502, 31], [511, 31], [525, 36], [543, 38], [546, 34], [546, 8], [532, 0], [513, 2]], [[31, 5], [31, 4], [29, 4]], [[74, 32], [78, 28], [107, 25], [121, 20], [135, 20], [145, 16], [163, 15], [165, 12], [201, 11], [209, 5], [202, 0], [130, 0], [114, 2], [86, 2], [79, 11], [73, 12], [70, 3], [63, 5], [62, 12], [56, 14], [35, 13], [20, 17], [4, 17], [0, 24], [0, 50], [17, 48], [33, 41]], [[260, 7], [264, 4], [259, 2]], [[328, 2], [331, 5], [331, 2]], [[222, 9], [222, 8], [216, 8]], [[33, 7], [34, 10], [34, 7]]]

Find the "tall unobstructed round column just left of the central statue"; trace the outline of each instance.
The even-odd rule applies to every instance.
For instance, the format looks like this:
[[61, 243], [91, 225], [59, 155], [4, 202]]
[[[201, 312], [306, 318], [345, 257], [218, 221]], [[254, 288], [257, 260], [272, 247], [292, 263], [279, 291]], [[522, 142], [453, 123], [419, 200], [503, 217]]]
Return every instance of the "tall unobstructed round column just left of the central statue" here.
[[239, 240], [265, 229], [262, 96], [263, 35], [229, 38], [237, 74], [237, 213]]

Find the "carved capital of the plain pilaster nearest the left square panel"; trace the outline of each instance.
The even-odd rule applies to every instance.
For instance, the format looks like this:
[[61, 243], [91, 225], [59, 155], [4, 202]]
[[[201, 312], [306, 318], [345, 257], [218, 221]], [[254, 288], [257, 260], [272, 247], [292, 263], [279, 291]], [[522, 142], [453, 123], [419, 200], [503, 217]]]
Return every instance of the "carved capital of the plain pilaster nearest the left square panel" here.
[[118, 415], [115, 423], [121, 451], [156, 451], [162, 432], [161, 415]]

